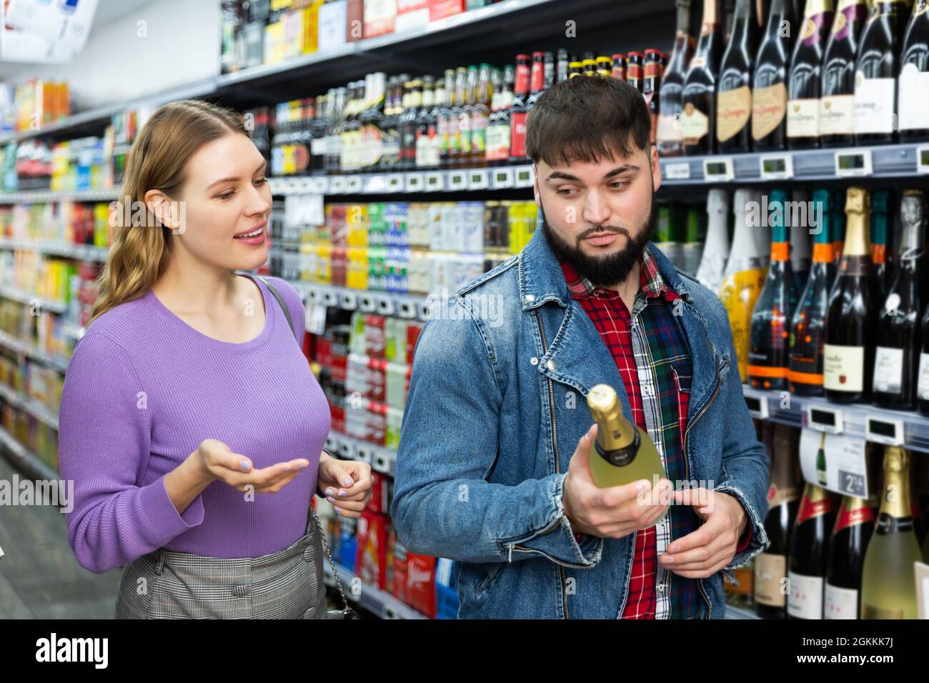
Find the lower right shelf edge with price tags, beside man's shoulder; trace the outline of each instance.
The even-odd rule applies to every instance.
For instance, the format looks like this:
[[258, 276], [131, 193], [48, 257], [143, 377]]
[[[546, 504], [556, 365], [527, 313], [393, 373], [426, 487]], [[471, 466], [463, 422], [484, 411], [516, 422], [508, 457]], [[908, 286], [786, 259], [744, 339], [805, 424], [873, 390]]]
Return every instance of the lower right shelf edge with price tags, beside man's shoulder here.
[[915, 411], [892, 411], [866, 403], [832, 403], [789, 391], [742, 385], [752, 417], [792, 427], [811, 427], [929, 453], [929, 417]]

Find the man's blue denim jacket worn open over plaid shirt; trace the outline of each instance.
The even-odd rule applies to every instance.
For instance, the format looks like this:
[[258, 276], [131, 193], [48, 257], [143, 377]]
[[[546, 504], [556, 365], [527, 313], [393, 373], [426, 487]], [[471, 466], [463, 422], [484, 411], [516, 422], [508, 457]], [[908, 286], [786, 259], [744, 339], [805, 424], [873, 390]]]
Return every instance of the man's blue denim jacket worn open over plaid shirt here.
[[[684, 301], [693, 362], [686, 479], [735, 496], [752, 525], [726, 570], [699, 580], [701, 616], [721, 619], [724, 572], [734, 582], [731, 569], [769, 545], [768, 456], [742, 396], [725, 307], [648, 248]], [[600, 383], [616, 389], [632, 420], [616, 363], [542, 230], [431, 310], [413, 356], [390, 514], [409, 552], [455, 560], [459, 618], [622, 615], [635, 533], [579, 544], [562, 504], [569, 459], [593, 422], [586, 397]]]

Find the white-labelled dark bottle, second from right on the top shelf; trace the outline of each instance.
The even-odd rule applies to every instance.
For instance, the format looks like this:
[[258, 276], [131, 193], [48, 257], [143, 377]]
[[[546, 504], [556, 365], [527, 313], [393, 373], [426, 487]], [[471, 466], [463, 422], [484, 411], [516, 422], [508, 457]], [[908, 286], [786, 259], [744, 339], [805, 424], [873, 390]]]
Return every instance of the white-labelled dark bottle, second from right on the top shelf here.
[[855, 63], [855, 142], [895, 141], [896, 76], [907, 20], [903, 0], [876, 0], [861, 32]]

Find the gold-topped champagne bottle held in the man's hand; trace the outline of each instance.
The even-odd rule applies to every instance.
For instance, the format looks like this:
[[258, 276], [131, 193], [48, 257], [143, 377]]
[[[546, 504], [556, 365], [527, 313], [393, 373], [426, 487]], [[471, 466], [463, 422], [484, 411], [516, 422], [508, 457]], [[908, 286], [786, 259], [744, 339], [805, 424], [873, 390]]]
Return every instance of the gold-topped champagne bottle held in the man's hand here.
[[[652, 491], [666, 477], [661, 455], [648, 432], [625, 418], [613, 387], [598, 384], [587, 395], [587, 407], [597, 424], [590, 449], [590, 474], [600, 488], [622, 486], [647, 479]], [[635, 504], [630, 501], [624, 505]], [[656, 523], [668, 514], [667, 509]]]

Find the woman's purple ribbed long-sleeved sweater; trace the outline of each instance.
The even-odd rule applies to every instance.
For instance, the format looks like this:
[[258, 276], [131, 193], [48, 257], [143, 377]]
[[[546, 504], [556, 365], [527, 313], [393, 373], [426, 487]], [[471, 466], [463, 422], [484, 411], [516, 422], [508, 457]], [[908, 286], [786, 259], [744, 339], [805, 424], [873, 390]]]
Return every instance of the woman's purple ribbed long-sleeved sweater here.
[[[300, 296], [269, 280], [302, 337]], [[68, 541], [86, 569], [108, 571], [160, 547], [254, 558], [305, 532], [329, 404], [278, 302], [258, 286], [265, 327], [243, 344], [197, 332], [151, 291], [87, 328], [59, 413], [61, 476], [74, 481]], [[281, 492], [255, 493], [254, 501], [213, 481], [178, 514], [164, 475], [204, 439], [229, 444], [256, 468], [298, 457], [309, 466]]]

